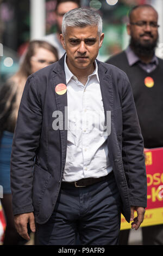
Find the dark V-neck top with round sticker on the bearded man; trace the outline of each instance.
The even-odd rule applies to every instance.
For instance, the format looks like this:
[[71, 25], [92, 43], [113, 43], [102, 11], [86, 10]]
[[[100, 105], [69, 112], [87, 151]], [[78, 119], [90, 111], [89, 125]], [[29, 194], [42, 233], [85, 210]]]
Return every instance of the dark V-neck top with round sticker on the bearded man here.
[[155, 58], [158, 64], [156, 61], [155, 68], [149, 73], [136, 58], [131, 58], [129, 64], [128, 57], [123, 51], [106, 62], [122, 69], [129, 78], [145, 147], [163, 147], [163, 60]]

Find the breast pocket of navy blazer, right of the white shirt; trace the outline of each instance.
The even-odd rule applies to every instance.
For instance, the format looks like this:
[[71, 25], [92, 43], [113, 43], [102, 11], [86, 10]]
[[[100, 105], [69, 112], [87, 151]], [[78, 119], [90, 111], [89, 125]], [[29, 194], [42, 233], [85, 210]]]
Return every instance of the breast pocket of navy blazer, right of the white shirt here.
[[114, 125], [117, 136], [122, 135], [122, 109], [114, 109]]

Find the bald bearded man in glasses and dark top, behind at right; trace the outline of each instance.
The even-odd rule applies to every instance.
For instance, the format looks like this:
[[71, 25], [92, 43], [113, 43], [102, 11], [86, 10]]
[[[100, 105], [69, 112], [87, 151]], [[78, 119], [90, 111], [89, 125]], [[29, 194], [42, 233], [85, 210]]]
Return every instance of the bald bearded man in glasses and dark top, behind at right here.
[[[146, 148], [163, 147], [163, 60], [155, 56], [158, 13], [148, 4], [131, 9], [126, 50], [106, 61], [122, 69], [133, 88], [134, 100]], [[128, 243], [129, 230], [121, 231]], [[142, 227], [143, 245], [163, 245], [163, 225]]]

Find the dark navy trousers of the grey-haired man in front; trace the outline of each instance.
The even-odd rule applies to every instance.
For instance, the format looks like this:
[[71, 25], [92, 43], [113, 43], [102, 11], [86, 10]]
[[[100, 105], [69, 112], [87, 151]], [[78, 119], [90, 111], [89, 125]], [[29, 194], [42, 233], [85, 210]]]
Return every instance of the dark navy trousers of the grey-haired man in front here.
[[54, 212], [37, 224], [41, 245], [118, 245], [121, 199], [114, 175], [88, 187], [61, 186]]

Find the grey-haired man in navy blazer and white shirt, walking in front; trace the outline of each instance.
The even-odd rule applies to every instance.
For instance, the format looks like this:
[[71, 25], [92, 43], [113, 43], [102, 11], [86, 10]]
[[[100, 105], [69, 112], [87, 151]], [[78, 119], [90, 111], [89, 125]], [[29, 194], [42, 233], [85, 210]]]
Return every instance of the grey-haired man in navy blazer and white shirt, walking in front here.
[[[66, 54], [27, 80], [11, 155], [12, 207], [24, 239], [29, 222], [42, 245], [74, 245], [77, 234], [82, 245], [117, 245], [121, 212], [132, 228], [143, 221], [143, 139], [127, 75], [96, 59], [103, 38], [96, 11], [68, 11]], [[100, 118], [87, 129], [92, 113]]]

